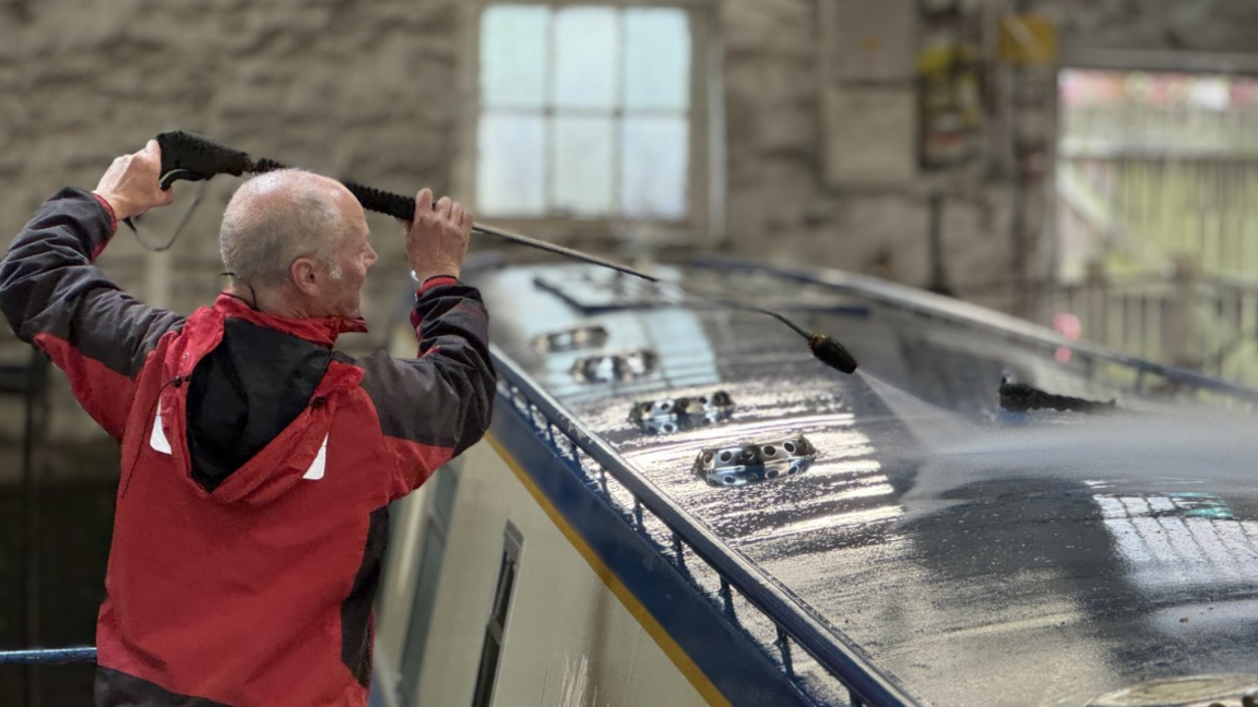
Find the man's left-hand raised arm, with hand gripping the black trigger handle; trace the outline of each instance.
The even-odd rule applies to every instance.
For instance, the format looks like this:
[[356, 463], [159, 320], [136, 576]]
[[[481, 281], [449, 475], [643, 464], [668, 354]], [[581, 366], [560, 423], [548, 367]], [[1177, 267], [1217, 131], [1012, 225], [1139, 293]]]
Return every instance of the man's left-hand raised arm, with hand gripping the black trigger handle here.
[[0, 309], [14, 333], [65, 371], [79, 404], [114, 439], [122, 438], [133, 380], [162, 333], [182, 318], [137, 302], [92, 263], [117, 221], [170, 204], [157, 185], [155, 141], [118, 157], [96, 192], [64, 189], [0, 260]]

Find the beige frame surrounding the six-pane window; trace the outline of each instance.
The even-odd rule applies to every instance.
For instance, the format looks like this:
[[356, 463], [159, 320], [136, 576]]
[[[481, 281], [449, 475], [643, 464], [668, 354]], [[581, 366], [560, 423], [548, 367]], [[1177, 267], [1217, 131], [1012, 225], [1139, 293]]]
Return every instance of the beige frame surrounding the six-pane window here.
[[[687, 160], [687, 216], [682, 221], [628, 219], [625, 216], [496, 216], [477, 209], [478, 132], [481, 126], [481, 18], [489, 5], [543, 5], [557, 10], [569, 6], [603, 5], [610, 8], [677, 8], [684, 10], [691, 25], [691, 102]], [[537, 235], [546, 240], [637, 242], [639, 230], [650, 230], [652, 242], [660, 245], [712, 245], [723, 231], [723, 125], [720, 81], [720, 47], [713, 33], [713, 0], [473, 0], [464, 8], [462, 65], [465, 99], [458, 121], [458, 160], [454, 165], [454, 191], [462, 196], [477, 219]], [[547, 120], [552, 113], [546, 113]], [[547, 179], [551, 176], [547, 165]]]

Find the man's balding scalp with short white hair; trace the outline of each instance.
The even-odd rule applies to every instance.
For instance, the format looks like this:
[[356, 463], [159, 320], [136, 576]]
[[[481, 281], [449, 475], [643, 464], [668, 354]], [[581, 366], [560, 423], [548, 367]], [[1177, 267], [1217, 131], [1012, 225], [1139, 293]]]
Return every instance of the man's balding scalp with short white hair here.
[[276, 286], [297, 258], [314, 258], [341, 279], [336, 252], [348, 224], [314, 175], [278, 170], [237, 189], [219, 229], [223, 265], [235, 282]]

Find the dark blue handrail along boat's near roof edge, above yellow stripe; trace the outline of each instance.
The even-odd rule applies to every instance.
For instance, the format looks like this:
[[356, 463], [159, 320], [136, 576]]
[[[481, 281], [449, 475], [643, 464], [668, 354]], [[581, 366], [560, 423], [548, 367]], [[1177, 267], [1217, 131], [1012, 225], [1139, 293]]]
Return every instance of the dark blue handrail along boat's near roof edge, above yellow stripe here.
[[[633, 496], [635, 507], [625, 518], [626, 522], [645, 532], [642, 513], [649, 512], [673, 533], [674, 551], [679, 552], [684, 546], [689, 546], [691, 551], [717, 574], [722, 582], [721, 595], [725, 599], [727, 618], [738, 621], [731, 610], [732, 600], [728, 594], [730, 587], [733, 587], [776, 626], [775, 644], [781, 653], [780, 668], [789, 678], [795, 679], [790, 659], [790, 643], [794, 642], [848, 689], [854, 707], [899, 707], [918, 703], [838, 629], [808, 610], [786, 587], [730, 548], [655, 484], [640, 476], [606, 442], [586, 428], [493, 343], [491, 353], [498, 371], [499, 395], [507, 396], [517, 413], [533, 425], [535, 431], [550, 444], [557, 457], [569, 463], [574, 473], [589, 474], [575, 452], [569, 453], [565, 450], [565, 444], [556, 443], [556, 435], [562, 435], [570, 449], [584, 452], [598, 464], [600, 473], [610, 476]], [[546, 424], [542, 425], [541, 420]], [[606, 489], [606, 479], [591, 478], [591, 481], [596, 482], [594, 486], [601, 488], [605, 501], [615, 508], [618, 503]], [[593, 488], [591, 492], [598, 493]]]

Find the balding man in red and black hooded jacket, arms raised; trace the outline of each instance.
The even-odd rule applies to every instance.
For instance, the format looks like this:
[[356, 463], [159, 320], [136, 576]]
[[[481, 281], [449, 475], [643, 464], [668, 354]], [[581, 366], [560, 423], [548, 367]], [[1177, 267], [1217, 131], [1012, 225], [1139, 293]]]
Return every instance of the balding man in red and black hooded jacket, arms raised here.
[[336, 181], [247, 181], [220, 233], [231, 288], [190, 317], [93, 267], [118, 220], [171, 203], [160, 165], [150, 142], [63, 190], [0, 263], [13, 330], [122, 444], [96, 704], [366, 704], [386, 506], [489, 423], [488, 321], [458, 282], [472, 215], [419, 192], [419, 357], [355, 360], [332, 345], [364, 331], [376, 253]]

